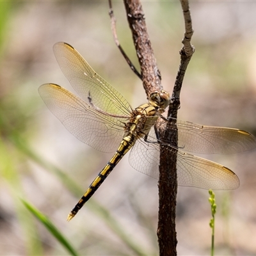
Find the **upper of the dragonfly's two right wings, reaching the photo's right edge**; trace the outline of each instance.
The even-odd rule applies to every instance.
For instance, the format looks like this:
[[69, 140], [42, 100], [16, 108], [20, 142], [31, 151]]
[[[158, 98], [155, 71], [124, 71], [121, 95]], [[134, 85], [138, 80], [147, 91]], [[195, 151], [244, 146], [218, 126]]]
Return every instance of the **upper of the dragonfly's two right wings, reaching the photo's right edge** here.
[[[167, 129], [166, 122], [159, 122], [159, 125]], [[178, 147], [186, 152], [233, 154], [256, 147], [256, 138], [239, 129], [193, 124], [176, 119], [168, 125], [168, 129], [178, 129]], [[168, 144], [168, 141], [163, 143]]]

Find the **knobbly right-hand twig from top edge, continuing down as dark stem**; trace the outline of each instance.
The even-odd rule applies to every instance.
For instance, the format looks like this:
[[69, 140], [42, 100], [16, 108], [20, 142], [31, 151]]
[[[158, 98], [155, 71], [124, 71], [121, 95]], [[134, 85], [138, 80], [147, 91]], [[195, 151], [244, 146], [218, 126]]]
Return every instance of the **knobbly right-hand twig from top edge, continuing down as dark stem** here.
[[[168, 110], [169, 123], [175, 122], [177, 111], [180, 107], [180, 90], [188, 63], [195, 51], [190, 44], [193, 35], [192, 22], [189, 12], [188, 0], [180, 0], [185, 20], [185, 34], [182, 40], [184, 45], [180, 50], [180, 66], [173, 87], [170, 108]], [[171, 132], [172, 131], [172, 132]], [[160, 131], [162, 140], [168, 141], [177, 148], [178, 133], [173, 130], [166, 129]], [[176, 197], [177, 197], [177, 154], [170, 155], [163, 145], [160, 145], [160, 165], [159, 165], [159, 221], [157, 228], [157, 236], [159, 241], [159, 255], [177, 255], [177, 238], [175, 232], [175, 216], [176, 216]], [[175, 150], [173, 150], [175, 151]], [[175, 153], [175, 152], [174, 152]]]

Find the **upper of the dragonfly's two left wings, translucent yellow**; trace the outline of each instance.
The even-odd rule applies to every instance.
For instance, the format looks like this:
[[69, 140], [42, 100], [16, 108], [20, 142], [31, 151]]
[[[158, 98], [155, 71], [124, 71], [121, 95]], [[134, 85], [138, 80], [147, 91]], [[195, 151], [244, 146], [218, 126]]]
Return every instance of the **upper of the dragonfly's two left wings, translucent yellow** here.
[[127, 116], [132, 111], [127, 100], [100, 77], [71, 45], [53, 46], [60, 68], [82, 99], [111, 115]]

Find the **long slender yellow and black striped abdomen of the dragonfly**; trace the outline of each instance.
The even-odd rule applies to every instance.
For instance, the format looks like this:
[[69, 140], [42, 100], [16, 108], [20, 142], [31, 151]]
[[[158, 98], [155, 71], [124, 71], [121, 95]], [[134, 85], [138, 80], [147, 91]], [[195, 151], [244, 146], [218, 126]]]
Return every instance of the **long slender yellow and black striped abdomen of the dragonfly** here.
[[76, 216], [77, 212], [92, 197], [102, 182], [104, 182], [106, 177], [108, 177], [109, 173], [111, 173], [111, 171], [115, 168], [116, 164], [118, 164], [122, 157], [124, 157], [124, 155], [131, 149], [135, 141], [136, 137], [133, 134], [128, 134], [124, 137], [116, 150], [115, 155], [109, 160], [108, 164], [106, 164], [102, 171], [93, 180], [92, 184], [90, 184], [89, 188], [86, 190], [74, 209], [72, 209], [72, 211], [68, 214], [67, 221], [70, 221], [72, 218], [74, 218], [74, 216]]

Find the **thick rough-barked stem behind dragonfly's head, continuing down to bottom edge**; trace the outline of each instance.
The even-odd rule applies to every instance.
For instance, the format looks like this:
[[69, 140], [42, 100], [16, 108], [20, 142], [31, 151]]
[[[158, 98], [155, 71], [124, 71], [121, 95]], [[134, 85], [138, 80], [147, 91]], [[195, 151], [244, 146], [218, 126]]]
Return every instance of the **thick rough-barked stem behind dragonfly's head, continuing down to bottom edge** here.
[[[140, 1], [124, 1], [127, 19], [132, 31], [132, 38], [141, 67], [143, 86], [149, 95], [153, 90], [161, 90], [161, 75], [156, 65], [156, 58], [147, 34], [144, 13]], [[161, 131], [160, 131], [161, 132]], [[161, 133], [161, 135], [163, 135]], [[161, 136], [161, 138], [163, 138]], [[172, 137], [173, 145], [177, 145], [177, 136]], [[159, 223], [157, 236], [160, 255], [176, 255], [175, 205], [177, 195], [176, 155], [167, 148], [161, 147], [159, 182]], [[173, 173], [173, 175], [170, 175]], [[174, 185], [173, 185], [174, 184]]]

